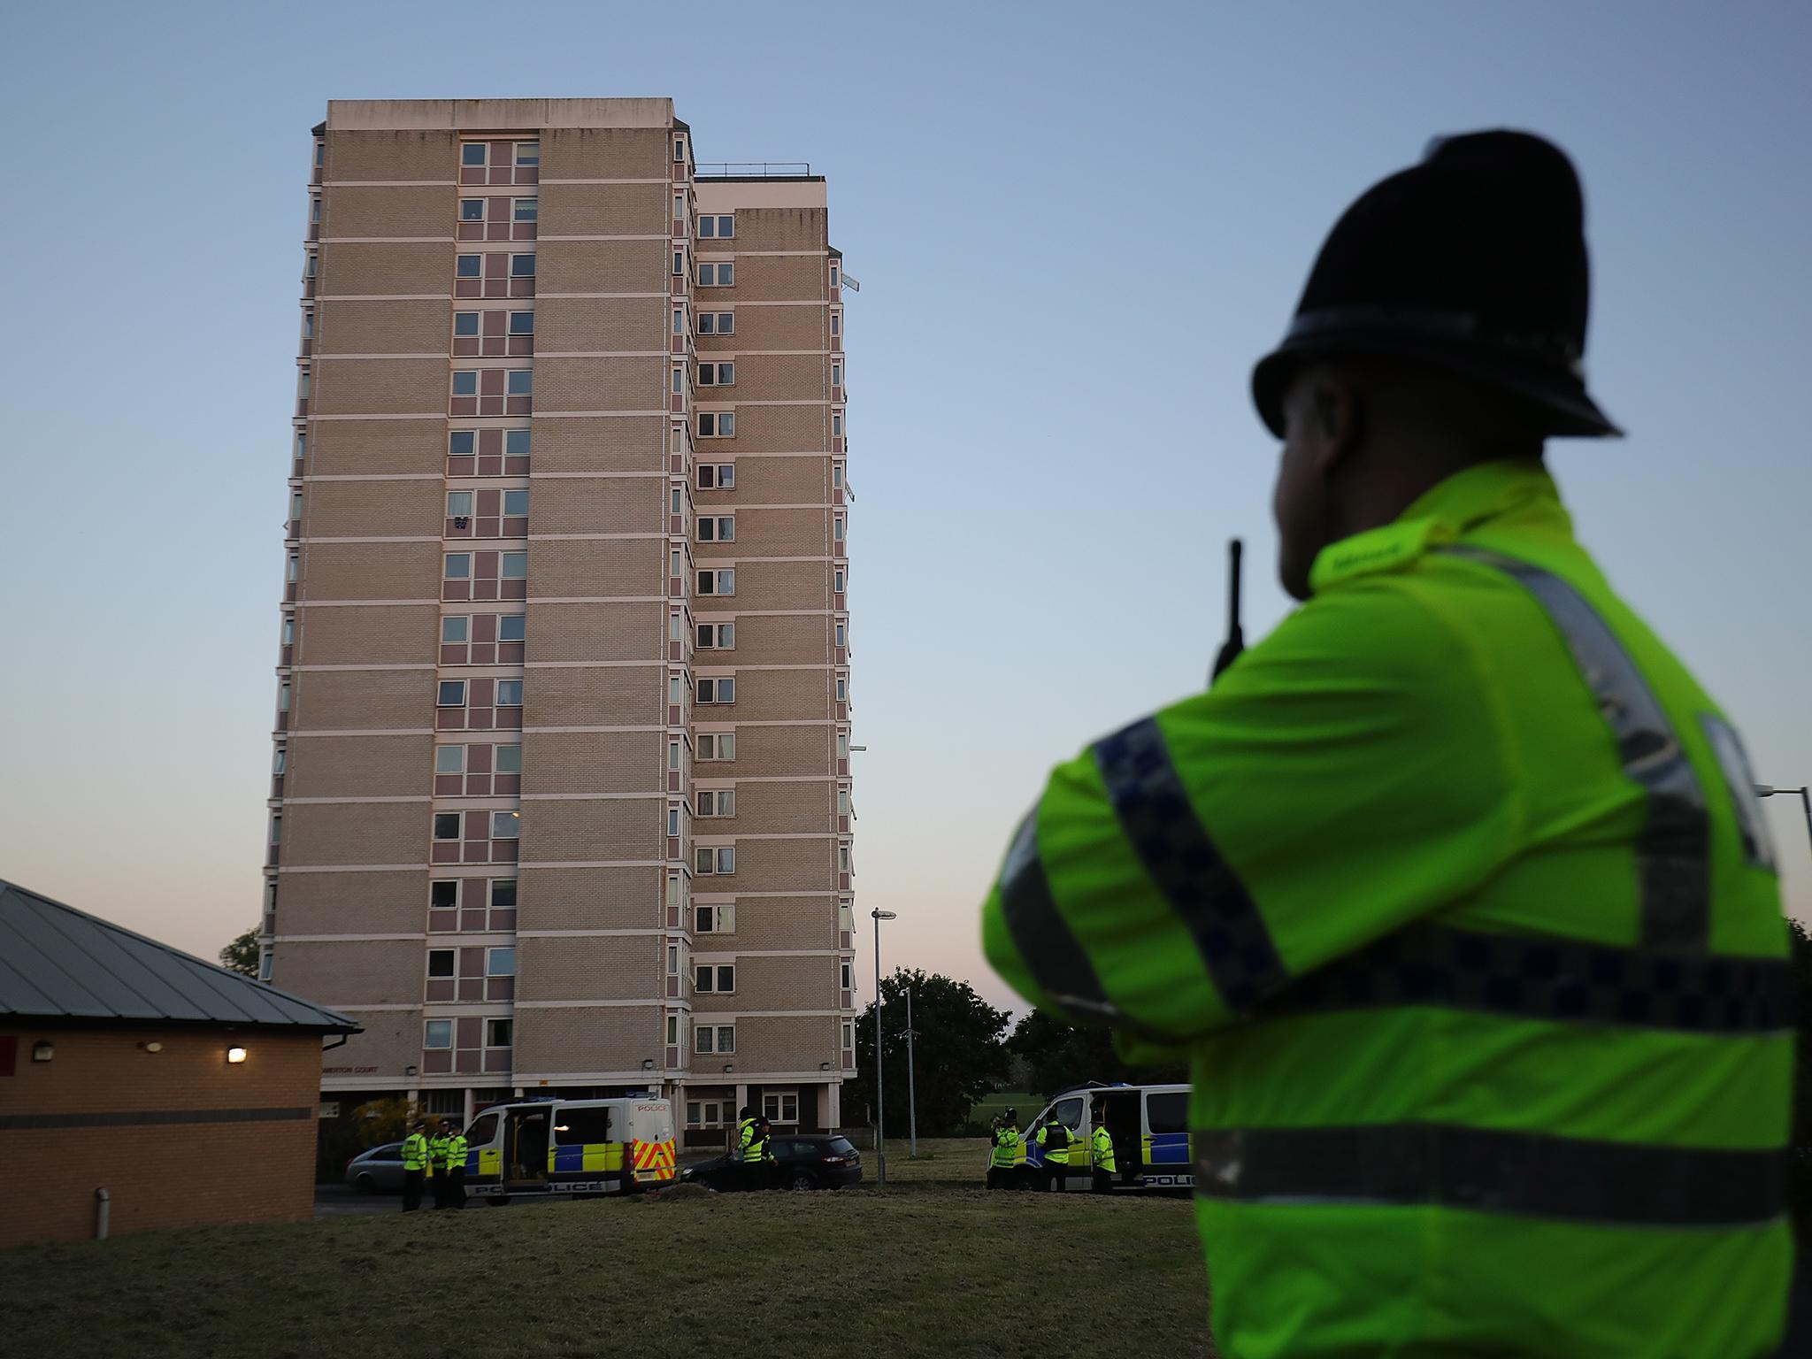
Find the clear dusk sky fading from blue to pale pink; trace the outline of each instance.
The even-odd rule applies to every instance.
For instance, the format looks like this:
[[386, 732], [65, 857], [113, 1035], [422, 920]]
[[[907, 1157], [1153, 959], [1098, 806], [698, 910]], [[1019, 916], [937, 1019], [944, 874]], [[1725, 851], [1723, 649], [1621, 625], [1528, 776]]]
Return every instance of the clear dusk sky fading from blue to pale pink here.
[[1229, 536], [1248, 638], [1287, 611], [1247, 375], [1334, 217], [1441, 132], [1576, 159], [1629, 439], [1549, 464], [1758, 777], [1812, 781], [1812, 7], [65, 4], [9, 38], [0, 877], [205, 957], [257, 919], [330, 98], [667, 94], [701, 161], [830, 178], [890, 968], [1007, 1002], [977, 906], [1046, 768], [1203, 683]]

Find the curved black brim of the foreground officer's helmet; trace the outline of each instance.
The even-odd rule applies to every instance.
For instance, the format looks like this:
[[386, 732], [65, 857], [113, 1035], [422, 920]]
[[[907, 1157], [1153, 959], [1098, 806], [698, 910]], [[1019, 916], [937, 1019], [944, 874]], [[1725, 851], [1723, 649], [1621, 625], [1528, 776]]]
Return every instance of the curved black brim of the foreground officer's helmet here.
[[[1308, 321], [1303, 317], [1299, 321]], [[1401, 324], [1401, 319], [1395, 319]], [[1562, 377], [1551, 364], [1520, 362], [1497, 344], [1466, 342], [1417, 328], [1377, 324], [1292, 326], [1283, 344], [1252, 368], [1252, 402], [1272, 435], [1283, 439], [1283, 399], [1301, 364], [1314, 359], [1390, 357], [1426, 364], [1482, 386], [1522, 397], [1553, 439], [1622, 439], [1624, 431], [1586, 391], [1584, 381]]]

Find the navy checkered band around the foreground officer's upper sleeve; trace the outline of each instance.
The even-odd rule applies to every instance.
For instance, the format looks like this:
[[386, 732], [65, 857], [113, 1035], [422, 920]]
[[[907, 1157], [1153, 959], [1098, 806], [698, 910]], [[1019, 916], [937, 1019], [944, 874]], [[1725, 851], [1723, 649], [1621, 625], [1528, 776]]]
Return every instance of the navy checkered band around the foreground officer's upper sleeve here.
[[1288, 982], [1288, 971], [1252, 895], [1189, 805], [1156, 719], [1143, 718], [1096, 741], [1094, 763], [1122, 832], [1196, 940], [1227, 1007], [1250, 1011]]

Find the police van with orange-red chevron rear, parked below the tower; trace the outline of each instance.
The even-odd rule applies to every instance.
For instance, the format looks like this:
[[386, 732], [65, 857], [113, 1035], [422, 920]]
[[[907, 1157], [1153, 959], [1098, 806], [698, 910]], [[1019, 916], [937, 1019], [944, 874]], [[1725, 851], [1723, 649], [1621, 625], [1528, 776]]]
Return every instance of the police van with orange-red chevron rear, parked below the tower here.
[[542, 1194], [627, 1194], [676, 1176], [670, 1100], [493, 1104], [466, 1129], [466, 1192], [506, 1203]]

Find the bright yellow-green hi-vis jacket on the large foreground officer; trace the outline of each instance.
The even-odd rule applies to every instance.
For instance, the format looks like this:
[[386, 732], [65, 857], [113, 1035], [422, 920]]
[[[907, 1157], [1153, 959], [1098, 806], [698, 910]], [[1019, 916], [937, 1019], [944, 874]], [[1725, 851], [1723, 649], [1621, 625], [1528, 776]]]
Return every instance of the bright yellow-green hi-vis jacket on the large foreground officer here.
[[1538, 462], [1310, 585], [1058, 766], [984, 908], [1026, 998], [1189, 1049], [1221, 1350], [1772, 1354], [1794, 1049], [1736, 732]]

